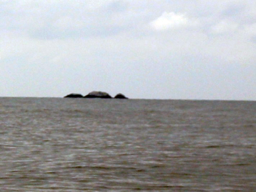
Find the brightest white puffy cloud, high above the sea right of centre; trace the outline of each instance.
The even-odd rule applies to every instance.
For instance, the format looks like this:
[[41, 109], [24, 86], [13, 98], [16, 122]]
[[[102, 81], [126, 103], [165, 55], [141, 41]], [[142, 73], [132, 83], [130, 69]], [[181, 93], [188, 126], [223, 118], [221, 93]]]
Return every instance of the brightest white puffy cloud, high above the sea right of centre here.
[[188, 26], [190, 24], [189, 19], [184, 14], [174, 12], [164, 12], [160, 17], [150, 22], [150, 25], [155, 30], [168, 30]]

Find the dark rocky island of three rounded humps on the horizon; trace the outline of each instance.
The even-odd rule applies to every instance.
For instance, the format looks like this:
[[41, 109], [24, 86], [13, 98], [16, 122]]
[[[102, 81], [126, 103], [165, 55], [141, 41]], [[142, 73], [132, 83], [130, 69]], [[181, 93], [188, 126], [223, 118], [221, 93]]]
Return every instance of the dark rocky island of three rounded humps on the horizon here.
[[[82, 96], [81, 94], [77, 93], [71, 93], [65, 96], [64, 98], [104, 98], [104, 99], [110, 99], [112, 96], [108, 94], [107, 92], [102, 91], [92, 91], [89, 92], [86, 96]], [[115, 99], [128, 99], [125, 95], [119, 93], [115, 97]]]

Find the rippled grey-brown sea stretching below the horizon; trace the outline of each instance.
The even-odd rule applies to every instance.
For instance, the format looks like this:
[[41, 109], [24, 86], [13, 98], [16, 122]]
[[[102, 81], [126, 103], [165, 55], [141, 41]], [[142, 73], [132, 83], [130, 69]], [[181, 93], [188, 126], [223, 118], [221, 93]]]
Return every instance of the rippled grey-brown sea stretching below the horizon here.
[[0, 191], [256, 191], [256, 102], [0, 98]]

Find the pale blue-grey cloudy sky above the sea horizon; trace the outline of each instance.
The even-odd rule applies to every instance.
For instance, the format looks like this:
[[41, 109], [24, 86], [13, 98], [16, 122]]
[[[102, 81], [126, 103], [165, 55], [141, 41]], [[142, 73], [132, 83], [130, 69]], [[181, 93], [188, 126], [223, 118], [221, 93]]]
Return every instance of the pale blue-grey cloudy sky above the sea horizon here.
[[0, 96], [256, 100], [255, 0], [0, 0]]

